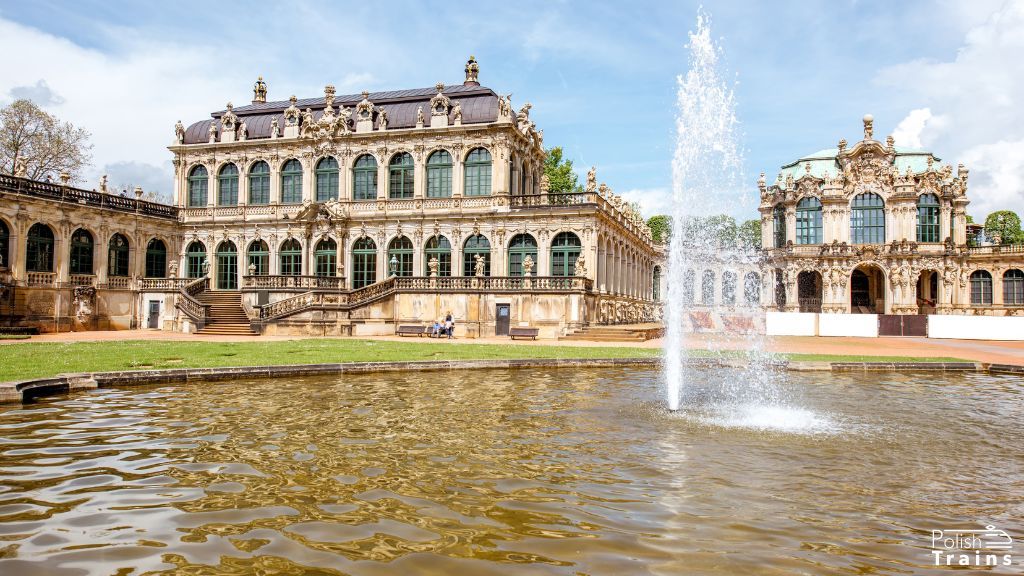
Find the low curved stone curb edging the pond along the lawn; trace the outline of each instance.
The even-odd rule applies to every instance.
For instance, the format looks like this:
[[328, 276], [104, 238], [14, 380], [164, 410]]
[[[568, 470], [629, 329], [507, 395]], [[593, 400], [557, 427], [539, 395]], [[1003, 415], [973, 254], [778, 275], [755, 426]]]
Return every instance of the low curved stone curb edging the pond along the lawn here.
[[[600, 368], [609, 366], [658, 366], [659, 357], [652, 358], [588, 358], [588, 359], [514, 359], [514, 360], [426, 360], [416, 362], [346, 362], [337, 364], [285, 364], [280, 366], [225, 366], [217, 368], [172, 368], [166, 370], [128, 370], [59, 374], [14, 382], [0, 382], [0, 404], [25, 402], [34, 398], [65, 394], [100, 386], [171, 384], [182, 382], [233, 380], [238, 378], [274, 378], [283, 376], [317, 376], [331, 374], [362, 374], [371, 372], [486, 370], [519, 368]], [[739, 360], [696, 358], [690, 365], [699, 367], [740, 368]], [[830, 372], [985, 372], [1024, 375], [1024, 366], [982, 364], [974, 362], [786, 362], [774, 364], [793, 371]]]

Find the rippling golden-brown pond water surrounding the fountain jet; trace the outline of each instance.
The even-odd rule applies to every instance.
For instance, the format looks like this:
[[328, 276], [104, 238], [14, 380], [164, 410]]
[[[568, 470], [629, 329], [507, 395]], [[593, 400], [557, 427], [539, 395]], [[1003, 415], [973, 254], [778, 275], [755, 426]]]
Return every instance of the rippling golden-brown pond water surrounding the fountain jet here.
[[933, 528], [1024, 536], [1019, 378], [821, 378], [770, 430], [636, 369], [46, 399], [0, 411], [0, 573], [921, 574]]

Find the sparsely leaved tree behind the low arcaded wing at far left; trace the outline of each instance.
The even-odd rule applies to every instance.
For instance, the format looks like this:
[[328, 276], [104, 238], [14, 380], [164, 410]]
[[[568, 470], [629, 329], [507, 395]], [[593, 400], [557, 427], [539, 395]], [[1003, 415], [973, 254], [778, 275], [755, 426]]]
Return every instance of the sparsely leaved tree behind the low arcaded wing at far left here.
[[34, 180], [56, 180], [68, 172], [81, 178], [89, 164], [89, 132], [61, 122], [32, 100], [14, 100], [0, 110], [0, 172], [20, 173]]

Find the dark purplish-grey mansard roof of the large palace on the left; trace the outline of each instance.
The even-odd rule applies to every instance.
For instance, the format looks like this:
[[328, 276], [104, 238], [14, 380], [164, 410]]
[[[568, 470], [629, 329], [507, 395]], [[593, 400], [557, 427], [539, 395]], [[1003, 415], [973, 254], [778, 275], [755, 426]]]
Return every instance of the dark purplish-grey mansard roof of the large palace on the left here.
[[[414, 88], [411, 90], [391, 90], [386, 92], [371, 92], [370, 101], [375, 107], [383, 107], [387, 111], [387, 127], [389, 130], [398, 128], [416, 127], [416, 111], [423, 107], [423, 115], [426, 125], [430, 125], [430, 98], [437, 93], [437, 89]], [[455, 102], [462, 102], [462, 123], [483, 124], [498, 120], [498, 94], [490, 88], [477, 85], [475, 83], [456, 84], [444, 88], [444, 95]], [[362, 94], [346, 94], [335, 96], [335, 112], [342, 107], [353, 110], [355, 105], [362, 100]], [[245, 122], [248, 129], [249, 139], [259, 139], [270, 137], [271, 119], [278, 118], [279, 130], [285, 126], [285, 109], [291, 102], [289, 100], [278, 100], [268, 102], [254, 102], [248, 106], [241, 106], [233, 109], [239, 117], [239, 122]], [[313, 119], [318, 120], [324, 110], [324, 96], [313, 98], [299, 98], [295, 106], [305, 111], [312, 109]], [[210, 120], [201, 120], [185, 129], [184, 143], [206, 143], [209, 140], [210, 124], [216, 122], [218, 131], [220, 129], [219, 118], [226, 112], [221, 110], [214, 112]], [[376, 118], [376, 114], [374, 115]], [[452, 112], [449, 112], [449, 125], [454, 121]]]

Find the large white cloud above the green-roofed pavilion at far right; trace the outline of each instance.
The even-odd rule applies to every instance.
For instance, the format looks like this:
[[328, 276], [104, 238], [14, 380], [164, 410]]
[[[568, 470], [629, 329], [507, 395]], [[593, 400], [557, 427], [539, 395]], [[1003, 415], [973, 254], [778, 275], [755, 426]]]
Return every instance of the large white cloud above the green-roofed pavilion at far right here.
[[1024, 0], [1001, 5], [971, 29], [949, 61], [887, 68], [878, 82], [911, 109], [897, 146], [921, 145], [971, 168], [970, 213], [1024, 212]]

